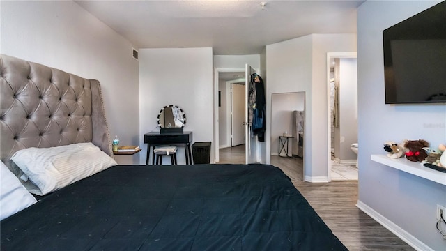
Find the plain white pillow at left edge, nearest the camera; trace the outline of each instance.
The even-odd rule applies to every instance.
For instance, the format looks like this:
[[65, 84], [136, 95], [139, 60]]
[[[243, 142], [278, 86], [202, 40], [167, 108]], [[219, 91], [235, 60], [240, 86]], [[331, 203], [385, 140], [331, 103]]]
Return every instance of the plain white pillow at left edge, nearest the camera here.
[[24, 188], [3, 162], [0, 163], [0, 181], [0, 220], [36, 203], [36, 198]]

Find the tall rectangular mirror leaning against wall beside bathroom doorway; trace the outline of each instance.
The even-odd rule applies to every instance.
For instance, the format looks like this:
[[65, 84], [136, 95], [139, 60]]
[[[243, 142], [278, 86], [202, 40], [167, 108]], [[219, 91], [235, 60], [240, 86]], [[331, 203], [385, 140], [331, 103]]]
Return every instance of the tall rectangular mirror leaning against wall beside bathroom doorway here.
[[271, 164], [304, 181], [305, 92], [272, 93]]

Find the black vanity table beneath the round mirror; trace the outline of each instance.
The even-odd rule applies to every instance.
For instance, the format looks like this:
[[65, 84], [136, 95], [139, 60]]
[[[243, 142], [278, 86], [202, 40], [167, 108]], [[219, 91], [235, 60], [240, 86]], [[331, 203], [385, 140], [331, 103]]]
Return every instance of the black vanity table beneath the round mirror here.
[[190, 142], [192, 142], [192, 132], [148, 132], [144, 134], [144, 143], [147, 144], [146, 165], [148, 165], [151, 153], [152, 165], [155, 165], [155, 154], [153, 154], [155, 146], [167, 144], [184, 144], [186, 165], [192, 164]]

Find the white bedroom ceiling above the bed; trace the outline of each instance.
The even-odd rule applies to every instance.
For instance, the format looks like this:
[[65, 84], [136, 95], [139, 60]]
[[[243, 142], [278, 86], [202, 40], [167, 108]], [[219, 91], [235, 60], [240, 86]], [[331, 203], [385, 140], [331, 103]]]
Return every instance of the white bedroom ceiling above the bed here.
[[265, 45], [312, 33], [356, 33], [364, 1], [75, 1], [137, 48], [213, 47], [260, 54]]

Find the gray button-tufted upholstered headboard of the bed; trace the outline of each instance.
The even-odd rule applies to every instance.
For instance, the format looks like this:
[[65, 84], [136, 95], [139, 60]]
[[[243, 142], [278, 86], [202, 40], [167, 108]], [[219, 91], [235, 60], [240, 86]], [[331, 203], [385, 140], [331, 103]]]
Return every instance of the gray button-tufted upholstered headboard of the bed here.
[[29, 147], [92, 142], [113, 156], [100, 84], [0, 54], [0, 157]]

